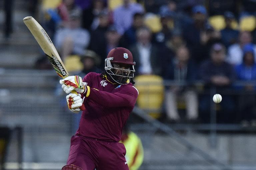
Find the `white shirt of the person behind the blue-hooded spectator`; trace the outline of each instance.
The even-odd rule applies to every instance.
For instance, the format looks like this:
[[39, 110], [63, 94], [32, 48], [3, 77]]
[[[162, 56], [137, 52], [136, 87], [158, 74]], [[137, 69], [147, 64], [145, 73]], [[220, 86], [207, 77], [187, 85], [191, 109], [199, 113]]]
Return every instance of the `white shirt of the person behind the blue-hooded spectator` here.
[[[256, 54], [256, 45], [253, 44], [254, 53]], [[243, 62], [243, 49], [239, 44], [233, 44], [228, 48], [227, 61], [232, 65], [238, 65]], [[256, 61], [256, 58], [255, 58]]]

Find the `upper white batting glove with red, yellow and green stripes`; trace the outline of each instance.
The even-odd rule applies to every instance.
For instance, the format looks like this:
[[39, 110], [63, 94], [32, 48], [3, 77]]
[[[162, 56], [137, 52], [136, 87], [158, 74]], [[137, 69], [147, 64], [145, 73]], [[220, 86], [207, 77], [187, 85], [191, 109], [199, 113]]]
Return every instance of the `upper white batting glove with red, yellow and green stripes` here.
[[60, 84], [67, 94], [71, 93], [72, 90], [75, 90], [80, 94], [86, 92], [86, 87], [83, 85], [82, 77], [80, 76], [68, 76], [63, 80], [60, 80]]

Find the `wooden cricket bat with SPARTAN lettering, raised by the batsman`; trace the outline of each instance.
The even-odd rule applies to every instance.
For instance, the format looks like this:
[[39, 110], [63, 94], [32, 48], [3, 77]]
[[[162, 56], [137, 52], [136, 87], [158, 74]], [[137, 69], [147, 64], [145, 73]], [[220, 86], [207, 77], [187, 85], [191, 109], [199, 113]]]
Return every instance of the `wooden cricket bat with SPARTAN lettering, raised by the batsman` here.
[[[31, 16], [25, 17], [23, 22], [28, 27], [29, 31], [32, 33], [37, 43], [40, 45], [47, 58], [51, 62], [54, 70], [61, 78], [66, 78], [68, 76], [68, 71], [65, 68], [55, 46], [53, 45], [51, 39], [44, 31], [42, 26]], [[75, 90], [71, 93], [77, 94]], [[84, 104], [80, 107], [81, 110], [85, 110]]]

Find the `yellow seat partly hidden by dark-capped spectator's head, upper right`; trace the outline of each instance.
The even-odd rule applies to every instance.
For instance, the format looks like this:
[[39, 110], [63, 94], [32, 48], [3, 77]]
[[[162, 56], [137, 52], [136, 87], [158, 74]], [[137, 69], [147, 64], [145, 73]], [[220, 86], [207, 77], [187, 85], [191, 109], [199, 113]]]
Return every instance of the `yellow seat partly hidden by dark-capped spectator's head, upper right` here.
[[[210, 25], [217, 31], [220, 31], [226, 27], [225, 18], [222, 15], [211, 16], [208, 19]], [[231, 27], [235, 30], [238, 29], [238, 23], [235, 19], [232, 20]]]

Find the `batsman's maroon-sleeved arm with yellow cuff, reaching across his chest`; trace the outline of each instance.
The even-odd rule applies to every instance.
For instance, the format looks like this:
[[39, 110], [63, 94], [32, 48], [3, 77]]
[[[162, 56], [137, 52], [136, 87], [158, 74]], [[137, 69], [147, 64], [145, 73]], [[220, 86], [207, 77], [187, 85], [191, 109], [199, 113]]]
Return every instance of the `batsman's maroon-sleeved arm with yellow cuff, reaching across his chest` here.
[[134, 86], [126, 86], [119, 92], [109, 93], [86, 86], [86, 92], [83, 95], [105, 107], [134, 107], [138, 91]]

